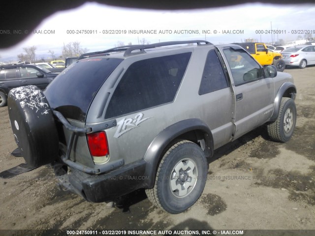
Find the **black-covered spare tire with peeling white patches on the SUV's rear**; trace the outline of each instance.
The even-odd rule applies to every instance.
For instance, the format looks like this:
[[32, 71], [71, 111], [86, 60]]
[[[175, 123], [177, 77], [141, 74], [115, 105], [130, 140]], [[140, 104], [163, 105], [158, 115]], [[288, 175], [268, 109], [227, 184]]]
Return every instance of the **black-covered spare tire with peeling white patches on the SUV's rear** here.
[[39, 167], [58, 158], [58, 132], [49, 103], [36, 86], [12, 89], [8, 111], [15, 137], [25, 161]]

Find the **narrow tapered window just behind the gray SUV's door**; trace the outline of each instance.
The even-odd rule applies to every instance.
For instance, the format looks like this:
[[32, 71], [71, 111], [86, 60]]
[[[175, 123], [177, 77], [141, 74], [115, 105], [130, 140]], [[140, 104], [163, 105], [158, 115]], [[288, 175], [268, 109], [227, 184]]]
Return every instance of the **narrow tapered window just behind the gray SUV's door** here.
[[199, 88], [199, 95], [227, 88], [227, 81], [215, 50], [208, 53]]

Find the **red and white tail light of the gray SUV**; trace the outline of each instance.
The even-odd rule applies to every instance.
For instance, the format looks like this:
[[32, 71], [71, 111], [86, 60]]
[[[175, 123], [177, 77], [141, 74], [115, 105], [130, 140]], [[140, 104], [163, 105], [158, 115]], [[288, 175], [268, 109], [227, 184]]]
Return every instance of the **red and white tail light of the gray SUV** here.
[[104, 163], [109, 159], [109, 149], [104, 131], [87, 134], [88, 146], [95, 163]]

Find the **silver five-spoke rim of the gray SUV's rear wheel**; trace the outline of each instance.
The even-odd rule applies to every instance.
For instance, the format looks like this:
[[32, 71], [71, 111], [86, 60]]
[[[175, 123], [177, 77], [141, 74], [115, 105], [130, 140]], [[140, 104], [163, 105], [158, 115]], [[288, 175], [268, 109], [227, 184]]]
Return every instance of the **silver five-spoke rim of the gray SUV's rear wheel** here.
[[177, 198], [188, 196], [194, 189], [198, 176], [196, 163], [185, 158], [179, 161], [171, 172], [170, 188]]

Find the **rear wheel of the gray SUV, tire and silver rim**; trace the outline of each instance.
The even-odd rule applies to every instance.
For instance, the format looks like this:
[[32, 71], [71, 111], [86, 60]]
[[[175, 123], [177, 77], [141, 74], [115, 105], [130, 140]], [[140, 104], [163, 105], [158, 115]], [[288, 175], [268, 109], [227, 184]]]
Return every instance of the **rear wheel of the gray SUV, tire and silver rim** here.
[[190, 141], [179, 141], [164, 154], [158, 166], [155, 186], [147, 189], [146, 194], [154, 205], [169, 213], [183, 212], [200, 197], [207, 171], [208, 164], [202, 149]]

